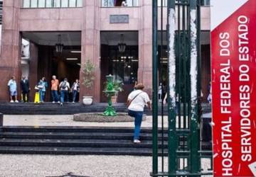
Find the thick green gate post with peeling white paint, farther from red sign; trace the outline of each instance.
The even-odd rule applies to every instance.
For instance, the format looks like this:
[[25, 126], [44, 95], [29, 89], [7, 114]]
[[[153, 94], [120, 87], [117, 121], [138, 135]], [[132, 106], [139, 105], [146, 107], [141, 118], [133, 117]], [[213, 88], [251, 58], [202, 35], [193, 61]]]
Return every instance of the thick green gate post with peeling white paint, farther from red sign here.
[[168, 88], [168, 160], [169, 173], [176, 173], [176, 53], [175, 53], [175, 0], [168, 0], [168, 58], [169, 58], [169, 88]]

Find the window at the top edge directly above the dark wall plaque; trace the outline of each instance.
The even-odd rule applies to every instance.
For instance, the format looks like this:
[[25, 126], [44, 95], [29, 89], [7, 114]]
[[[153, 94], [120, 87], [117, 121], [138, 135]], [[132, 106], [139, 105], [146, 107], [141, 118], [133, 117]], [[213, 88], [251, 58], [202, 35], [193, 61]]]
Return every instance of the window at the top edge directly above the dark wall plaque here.
[[[124, 0], [102, 0], [102, 7], [122, 6]], [[139, 6], [139, 0], [125, 0], [126, 6]]]

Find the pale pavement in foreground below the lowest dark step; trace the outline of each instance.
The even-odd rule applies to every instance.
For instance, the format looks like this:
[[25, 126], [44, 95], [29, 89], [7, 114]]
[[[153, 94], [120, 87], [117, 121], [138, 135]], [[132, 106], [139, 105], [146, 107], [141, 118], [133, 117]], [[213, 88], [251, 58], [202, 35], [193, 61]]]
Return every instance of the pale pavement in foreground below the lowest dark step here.
[[[151, 171], [151, 157], [144, 156], [0, 155], [0, 164], [1, 177], [147, 177]], [[207, 169], [209, 161], [203, 164]]]

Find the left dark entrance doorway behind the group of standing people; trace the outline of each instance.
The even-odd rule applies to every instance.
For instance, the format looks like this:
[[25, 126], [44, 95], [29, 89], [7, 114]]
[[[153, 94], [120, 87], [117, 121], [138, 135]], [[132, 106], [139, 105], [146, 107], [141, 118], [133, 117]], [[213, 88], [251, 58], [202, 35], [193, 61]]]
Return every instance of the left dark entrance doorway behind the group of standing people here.
[[[48, 89], [45, 101], [51, 101], [50, 81], [53, 75], [59, 81], [67, 78], [70, 87], [79, 79], [81, 63], [81, 33], [80, 32], [23, 32], [23, 38], [30, 42], [30, 57], [28, 79], [31, 85], [31, 100], [33, 87], [42, 77], [46, 77]], [[58, 48], [57, 48], [58, 46]], [[78, 101], [77, 96], [76, 101]], [[69, 100], [72, 101], [70, 93]]]

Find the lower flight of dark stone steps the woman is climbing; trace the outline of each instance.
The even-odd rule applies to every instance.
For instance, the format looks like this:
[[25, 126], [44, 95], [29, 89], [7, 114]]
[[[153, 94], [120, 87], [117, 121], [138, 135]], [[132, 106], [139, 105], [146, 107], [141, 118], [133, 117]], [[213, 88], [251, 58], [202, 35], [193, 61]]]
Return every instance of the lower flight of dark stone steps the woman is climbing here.
[[[0, 154], [151, 156], [152, 131], [142, 129], [140, 144], [134, 144], [132, 136], [133, 130], [124, 127], [2, 127]], [[162, 147], [161, 138], [159, 147]], [[167, 130], [164, 130], [163, 147], [167, 155]], [[211, 144], [205, 143], [202, 148], [210, 149]]]

